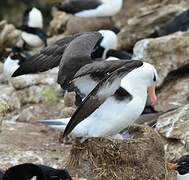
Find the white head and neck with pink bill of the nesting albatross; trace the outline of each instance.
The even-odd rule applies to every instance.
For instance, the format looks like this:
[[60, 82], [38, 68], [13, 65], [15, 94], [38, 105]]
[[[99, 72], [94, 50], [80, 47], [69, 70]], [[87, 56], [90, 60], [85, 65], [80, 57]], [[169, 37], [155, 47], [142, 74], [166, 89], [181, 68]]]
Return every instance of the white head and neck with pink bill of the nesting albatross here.
[[[122, 81], [121, 86], [126, 88], [132, 95], [143, 95], [148, 92], [152, 105], [157, 103], [155, 85], [157, 83], [157, 71], [149, 63], [143, 62], [143, 65], [131, 71]], [[147, 96], [146, 96], [147, 97]]]

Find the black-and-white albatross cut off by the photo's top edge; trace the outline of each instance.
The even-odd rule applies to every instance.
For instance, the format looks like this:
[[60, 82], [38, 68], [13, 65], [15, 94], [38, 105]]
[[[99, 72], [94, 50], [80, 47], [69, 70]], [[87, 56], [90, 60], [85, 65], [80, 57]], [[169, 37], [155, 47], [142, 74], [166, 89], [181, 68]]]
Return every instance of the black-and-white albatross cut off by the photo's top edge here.
[[116, 15], [123, 0], [66, 0], [57, 8], [79, 17], [108, 17]]

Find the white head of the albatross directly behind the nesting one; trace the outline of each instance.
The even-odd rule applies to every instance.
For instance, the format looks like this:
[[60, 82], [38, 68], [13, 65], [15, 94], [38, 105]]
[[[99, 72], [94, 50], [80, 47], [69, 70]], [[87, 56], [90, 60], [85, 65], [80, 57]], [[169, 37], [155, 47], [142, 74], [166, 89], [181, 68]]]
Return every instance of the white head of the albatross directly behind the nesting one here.
[[116, 49], [118, 45], [117, 35], [111, 30], [100, 30], [99, 33], [103, 36], [100, 45], [105, 49], [103, 57], [109, 49]]

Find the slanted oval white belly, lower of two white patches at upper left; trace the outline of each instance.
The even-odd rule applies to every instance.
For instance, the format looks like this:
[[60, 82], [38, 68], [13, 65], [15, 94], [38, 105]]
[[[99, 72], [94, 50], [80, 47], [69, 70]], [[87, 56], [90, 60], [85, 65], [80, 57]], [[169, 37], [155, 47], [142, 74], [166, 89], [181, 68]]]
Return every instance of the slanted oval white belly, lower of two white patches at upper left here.
[[37, 35], [22, 32], [22, 39], [31, 47], [40, 47], [43, 45], [43, 41]]

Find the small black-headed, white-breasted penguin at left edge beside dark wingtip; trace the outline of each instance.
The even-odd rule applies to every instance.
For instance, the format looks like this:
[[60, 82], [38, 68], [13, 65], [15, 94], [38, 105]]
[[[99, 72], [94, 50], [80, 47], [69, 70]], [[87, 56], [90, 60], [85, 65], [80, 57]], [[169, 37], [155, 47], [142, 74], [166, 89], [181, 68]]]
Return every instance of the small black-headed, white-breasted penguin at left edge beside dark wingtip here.
[[3, 66], [3, 73], [8, 80], [13, 76], [23, 61], [25, 61], [25, 56], [22, 54], [22, 49], [19, 47], [12, 48]]

